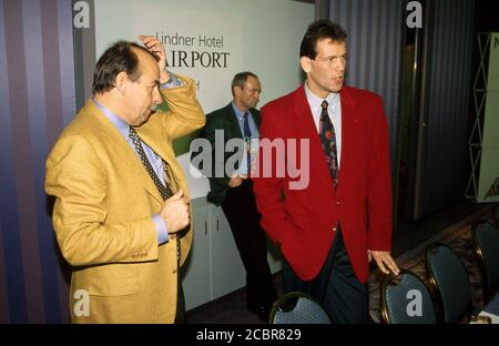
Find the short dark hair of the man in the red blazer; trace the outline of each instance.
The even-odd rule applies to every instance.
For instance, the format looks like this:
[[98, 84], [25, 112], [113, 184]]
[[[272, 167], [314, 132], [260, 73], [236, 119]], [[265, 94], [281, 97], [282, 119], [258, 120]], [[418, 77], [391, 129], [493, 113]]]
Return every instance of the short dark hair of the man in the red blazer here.
[[346, 41], [346, 31], [338, 24], [333, 23], [328, 19], [316, 20], [308, 26], [302, 44], [299, 45], [299, 58], [307, 57], [312, 60], [317, 57], [317, 41], [330, 39], [335, 42], [343, 43]]

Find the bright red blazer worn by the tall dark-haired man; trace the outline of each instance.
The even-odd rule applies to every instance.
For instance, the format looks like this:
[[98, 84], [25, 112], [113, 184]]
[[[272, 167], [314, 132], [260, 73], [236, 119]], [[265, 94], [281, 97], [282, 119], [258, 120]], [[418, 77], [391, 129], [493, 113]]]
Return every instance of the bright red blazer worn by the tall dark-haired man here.
[[[284, 177], [276, 174], [276, 157], [266, 160], [261, 146], [254, 191], [264, 230], [274, 243], [281, 243], [284, 257], [302, 279], [319, 273], [339, 223], [355, 274], [365, 283], [369, 274], [367, 250], [391, 247], [388, 126], [381, 98], [375, 93], [343, 86], [340, 104], [342, 162], [336, 191], [304, 85], [262, 108], [259, 134], [261, 140], [285, 140], [286, 149], [288, 139], [309, 140], [309, 150], [302, 152], [296, 145], [298, 163], [309, 157], [308, 185], [289, 189], [291, 182], [303, 177], [293, 177], [296, 174], [288, 170]], [[273, 173], [265, 177], [262, 169], [268, 164]]]

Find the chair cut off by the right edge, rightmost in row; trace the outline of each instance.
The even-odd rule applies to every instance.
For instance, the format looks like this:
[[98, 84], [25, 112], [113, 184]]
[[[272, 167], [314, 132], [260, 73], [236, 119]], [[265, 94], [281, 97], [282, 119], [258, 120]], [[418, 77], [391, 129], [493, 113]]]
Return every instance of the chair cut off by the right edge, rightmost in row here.
[[491, 223], [478, 221], [471, 226], [475, 251], [483, 275], [483, 297], [499, 291], [499, 231]]

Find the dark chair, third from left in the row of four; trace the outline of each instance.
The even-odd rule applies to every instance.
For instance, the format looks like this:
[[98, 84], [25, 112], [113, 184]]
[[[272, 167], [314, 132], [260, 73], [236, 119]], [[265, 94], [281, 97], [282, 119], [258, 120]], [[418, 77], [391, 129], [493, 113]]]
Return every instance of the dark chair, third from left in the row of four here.
[[440, 323], [459, 323], [471, 314], [471, 287], [459, 256], [442, 243], [426, 247], [426, 269], [437, 301]]

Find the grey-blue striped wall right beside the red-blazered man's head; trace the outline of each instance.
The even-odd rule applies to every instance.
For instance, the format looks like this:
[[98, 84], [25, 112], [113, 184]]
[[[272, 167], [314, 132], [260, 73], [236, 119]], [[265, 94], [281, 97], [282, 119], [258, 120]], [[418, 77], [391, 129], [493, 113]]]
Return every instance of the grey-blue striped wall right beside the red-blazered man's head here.
[[346, 84], [383, 96], [389, 125], [393, 173], [396, 170], [400, 110], [401, 29], [406, 18], [400, 0], [330, 0], [329, 3], [329, 19], [347, 31]]

